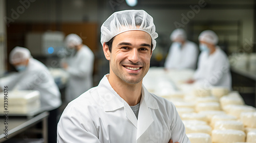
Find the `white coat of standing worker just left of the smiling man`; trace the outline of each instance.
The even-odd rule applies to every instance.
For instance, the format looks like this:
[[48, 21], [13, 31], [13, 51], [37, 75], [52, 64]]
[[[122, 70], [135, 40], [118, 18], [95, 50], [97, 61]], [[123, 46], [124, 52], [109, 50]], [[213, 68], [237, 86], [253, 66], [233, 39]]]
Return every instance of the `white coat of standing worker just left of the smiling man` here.
[[69, 80], [66, 90], [66, 101], [69, 102], [93, 87], [94, 54], [83, 45], [67, 59]]

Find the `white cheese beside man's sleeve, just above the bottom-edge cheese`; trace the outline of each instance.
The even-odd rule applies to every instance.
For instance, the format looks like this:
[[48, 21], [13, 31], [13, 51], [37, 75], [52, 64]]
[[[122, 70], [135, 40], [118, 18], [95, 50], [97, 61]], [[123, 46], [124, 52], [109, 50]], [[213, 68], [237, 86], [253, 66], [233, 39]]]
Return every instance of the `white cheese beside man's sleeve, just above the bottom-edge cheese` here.
[[187, 133], [207, 133], [211, 134], [211, 127], [208, 125], [186, 125], [186, 134]]

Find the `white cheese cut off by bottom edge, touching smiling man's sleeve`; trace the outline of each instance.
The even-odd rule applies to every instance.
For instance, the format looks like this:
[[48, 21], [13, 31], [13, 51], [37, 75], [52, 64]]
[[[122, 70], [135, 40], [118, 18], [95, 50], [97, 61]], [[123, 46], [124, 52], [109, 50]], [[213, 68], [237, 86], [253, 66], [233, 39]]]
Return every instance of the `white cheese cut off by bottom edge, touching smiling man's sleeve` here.
[[191, 143], [211, 143], [211, 137], [207, 133], [186, 134]]

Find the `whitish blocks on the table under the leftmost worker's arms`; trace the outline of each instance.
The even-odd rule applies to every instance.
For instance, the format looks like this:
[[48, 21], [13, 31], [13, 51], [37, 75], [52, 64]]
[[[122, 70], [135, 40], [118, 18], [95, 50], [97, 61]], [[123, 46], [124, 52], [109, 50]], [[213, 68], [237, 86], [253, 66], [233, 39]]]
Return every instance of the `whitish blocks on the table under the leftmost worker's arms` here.
[[[4, 93], [0, 93], [4, 95]], [[39, 91], [8, 91], [8, 100], [4, 96], [0, 96], [0, 103], [8, 101], [9, 114], [26, 114], [40, 108]], [[4, 107], [0, 108], [0, 112], [4, 112]]]

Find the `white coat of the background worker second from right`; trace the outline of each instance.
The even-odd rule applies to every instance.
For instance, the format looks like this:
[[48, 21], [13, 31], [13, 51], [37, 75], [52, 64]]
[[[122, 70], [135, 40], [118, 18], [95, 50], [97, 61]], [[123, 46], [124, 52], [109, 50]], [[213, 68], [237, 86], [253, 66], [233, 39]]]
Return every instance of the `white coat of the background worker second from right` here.
[[186, 41], [182, 48], [172, 44], [164, 67], [166, 69], [196, 69], [198, 48], [194, 42]]

